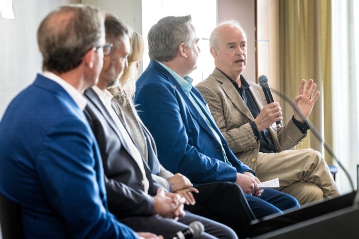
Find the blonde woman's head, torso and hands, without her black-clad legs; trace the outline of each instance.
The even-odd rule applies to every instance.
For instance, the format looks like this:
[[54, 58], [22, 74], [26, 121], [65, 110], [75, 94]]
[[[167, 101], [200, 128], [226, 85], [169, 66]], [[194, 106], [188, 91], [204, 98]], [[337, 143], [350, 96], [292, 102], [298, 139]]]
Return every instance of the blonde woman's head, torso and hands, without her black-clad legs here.
[[154, 140], [138, 117], [132, 98], [134, 96], [135, 83], [138, 68], [142, 62], [144, 53], [144, 40], [141, 34], [132, 31], [130, 36], [131, 53], [128, 56], [128, 67], [119, 78], [119, 84], [110, 89], [114, 95], [112, 102], [116, 106], [117, 115], [125, 122], [127, 130], [135, 141], [137, 148], [145, 162], [152, 171], [152, 178], [163, 185], [168, 191], [181, 194], [187, 200], [187, 204], [194, 204], [192, 191], [198, 192], [192, 187], [192, 183], [180, 173], [173, 175], [166, 170], [157, 160], [157, 151]]

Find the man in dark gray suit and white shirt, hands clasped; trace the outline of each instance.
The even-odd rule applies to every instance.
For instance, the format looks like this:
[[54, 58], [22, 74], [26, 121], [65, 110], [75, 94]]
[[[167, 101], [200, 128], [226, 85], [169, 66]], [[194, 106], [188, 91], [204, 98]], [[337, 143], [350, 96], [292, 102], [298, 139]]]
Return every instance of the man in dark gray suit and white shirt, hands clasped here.
[[237, 238], [229, 227], [184, 212], [184, 198], [165, 192], [152, 180], [124, 123], [111, 105], [112, 95], [106, 89], [118, 82], [127, 67], [130, 42], [127, 27], [115, 16], [105, 19], [106, 41], [112, 44], [104, 57], [104, 67], [95, 86], [85, 91], [85, 108], [93, 134], [98, 142], [105, 171], [109, 210], [120, 222], [139, 231], [150, 231], [170, 238], [185, 230], [193, 221], [205, 226], [198, 238]]

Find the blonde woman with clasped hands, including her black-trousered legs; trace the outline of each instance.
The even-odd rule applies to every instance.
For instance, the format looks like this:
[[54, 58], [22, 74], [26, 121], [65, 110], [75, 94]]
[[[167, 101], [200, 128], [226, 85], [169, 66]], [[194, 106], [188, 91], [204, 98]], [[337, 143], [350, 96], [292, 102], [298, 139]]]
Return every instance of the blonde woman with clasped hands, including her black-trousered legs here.
[[[254, 215], [249, 208], [241, 188], [230, 182], [214, 182], [192, 187], [189, 179], [181, 173], [171, 173], [159, 164], [154, 140], [139, 119], [132, 101], [132, 95], [138, 69], [138, 61], [142, 59], [144, 41], [141, 35], [133, 32], [130, 37], [131, 53], [128, 56], [128, 67], [119, 78], [118, 86], [109, 90], [116, 114], [121, 117], [127, 131], [132, 136], [143, 159], [148, 163], [152, 178], [166, 187], [169, 191], [179, 193], [186, 199], [185, 209], [195, 214], [223, 223], [231, 227], [240, 238], [248, 237], [249, 224]], [[129, 87], [130, 86], [130, 87]], [[194, 200], [193, 193], [196, 193]], [[226, 200], [223, 195], [230, 194]], [[208, 200], [208, 199], [211, 200]]]

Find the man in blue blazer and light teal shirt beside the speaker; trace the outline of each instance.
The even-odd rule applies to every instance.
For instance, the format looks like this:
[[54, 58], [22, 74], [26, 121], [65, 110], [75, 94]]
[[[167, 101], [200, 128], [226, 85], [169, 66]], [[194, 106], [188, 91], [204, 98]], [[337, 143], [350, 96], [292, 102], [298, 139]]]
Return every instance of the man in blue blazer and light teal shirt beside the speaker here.
[[299, 207], [288, 194], [258, 187], [253, 170], [228, 148], [204, 99], [192, 88], [188, 74], [196, 68], [200, 49], [191, 16], [162, 18], [148, 40], [151, 62], [136, 82], [135, 104], [156, 142], [159, 162], [196, 185], [235, 182], [256, 218]]

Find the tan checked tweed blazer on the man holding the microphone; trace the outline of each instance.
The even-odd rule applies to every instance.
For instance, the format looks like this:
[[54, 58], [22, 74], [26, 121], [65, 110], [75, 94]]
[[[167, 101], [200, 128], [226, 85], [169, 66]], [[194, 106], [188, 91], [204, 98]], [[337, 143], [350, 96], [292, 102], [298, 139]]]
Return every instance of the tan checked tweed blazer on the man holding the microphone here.
[[[261, 111], [267, 105], [263, 90], [253, 82], [248, 83], [255, 104]], [[207, 101], [216, 124], [235, 156], [255, 171], [261, 140], [255, 138], [249, 124], [254, 118], [232, 82], [215, 68], [206, 80], [195, 87]], [[274, 122], [268, 129], [277, 153], [294, 147], [307, 136], [302, 134], [292, 119], [280, 128], [276, 128]]]

